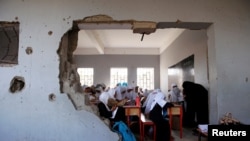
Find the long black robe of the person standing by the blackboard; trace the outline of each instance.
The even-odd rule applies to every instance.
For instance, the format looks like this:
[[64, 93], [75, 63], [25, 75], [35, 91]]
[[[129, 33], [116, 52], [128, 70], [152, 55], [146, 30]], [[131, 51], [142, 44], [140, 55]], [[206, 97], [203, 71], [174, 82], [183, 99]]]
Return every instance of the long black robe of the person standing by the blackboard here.
[[202, 85], [189, 81], [184, 81], [182, 87], [187, 104], [184, 126], [196, 127], [198, 124], [208, 124], [208, 91]]

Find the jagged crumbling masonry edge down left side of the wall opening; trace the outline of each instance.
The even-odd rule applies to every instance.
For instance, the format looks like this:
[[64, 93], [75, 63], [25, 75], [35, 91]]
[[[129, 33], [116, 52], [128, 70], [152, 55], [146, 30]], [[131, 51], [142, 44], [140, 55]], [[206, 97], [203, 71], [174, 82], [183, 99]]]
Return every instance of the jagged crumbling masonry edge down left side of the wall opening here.
[[66, 93], [76, 110], [88, 108], [84, 103], [84, 93], [77, 73], [76, 64], [73, 62], [73, 51], [77, 46], [77, 36], [79, 30], [70, 30], [61, 39], [61, 44], [57, 53], [59, 55], [59, 83], [60, 92]]

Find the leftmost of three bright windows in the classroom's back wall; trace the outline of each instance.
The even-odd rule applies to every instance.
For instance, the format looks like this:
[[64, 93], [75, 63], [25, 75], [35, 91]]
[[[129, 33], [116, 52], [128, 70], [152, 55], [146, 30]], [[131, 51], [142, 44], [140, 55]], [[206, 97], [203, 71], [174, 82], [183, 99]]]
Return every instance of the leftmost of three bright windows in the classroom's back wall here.
[[93, 68], [78, 68], [77, 72], [80, 76], [81, 85], [91, 86], [94, 84], [94, 69]]

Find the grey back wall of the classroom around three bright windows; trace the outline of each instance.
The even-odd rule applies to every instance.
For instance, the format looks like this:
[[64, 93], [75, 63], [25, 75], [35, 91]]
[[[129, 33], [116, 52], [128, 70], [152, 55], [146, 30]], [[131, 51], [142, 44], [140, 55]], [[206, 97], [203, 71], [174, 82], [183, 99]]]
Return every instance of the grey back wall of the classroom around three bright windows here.
[[128, 68], [128, 84], [131, 85], [137, 83], [137, 67], [152, 67], [155, 71], [155, 88], [160, 87], [159, 55], [75, 55], [74, 61], [78, 68], [94, 68], [94, 84], [105, 83], [107, 86], [110, 86], [112, 67]]

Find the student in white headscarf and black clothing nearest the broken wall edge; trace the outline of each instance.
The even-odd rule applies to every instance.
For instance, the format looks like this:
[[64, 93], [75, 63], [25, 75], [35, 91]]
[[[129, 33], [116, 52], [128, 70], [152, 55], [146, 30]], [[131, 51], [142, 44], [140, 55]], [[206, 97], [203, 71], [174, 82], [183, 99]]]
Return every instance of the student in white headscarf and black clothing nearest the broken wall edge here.
[[[112, 92], [113, 93], [113, 92]], [[110, 121], [126, 121], [125, 109], [118, 106], [118, 102], [109, 92], [102, 92], [98, 103], [99, 114], [101, 117], [108, 118]]]

